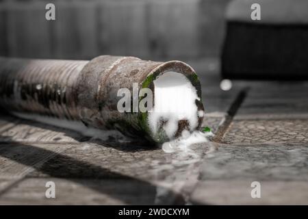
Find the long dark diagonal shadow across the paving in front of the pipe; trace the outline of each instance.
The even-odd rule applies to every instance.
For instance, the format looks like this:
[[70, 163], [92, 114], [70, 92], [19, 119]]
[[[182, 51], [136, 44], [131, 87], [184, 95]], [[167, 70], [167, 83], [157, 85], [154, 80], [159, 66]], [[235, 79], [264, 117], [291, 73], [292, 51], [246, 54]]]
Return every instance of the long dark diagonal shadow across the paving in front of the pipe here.
[[[47, 161], [42, 165], [37, 165], [37, 164], [34, 164], [33, 160], [31, 159], [21, 159], [21, 153], [18, 153], [18, 147], [23, 147], [25, 151], [29, 151], [29, 153], [31, 152], [30, 155], [39, 154], [40, 157], [52, 157], [53, 163], [49, 164]], [[25, 144], [25, 143], [19, 143], [19, 142], [7, 142], [5, 144], [1, 144], [0, 155], [1, 157], [11, 159], [20, 164], [31, 166], [35, 170], [38, 170], [46, 175], [49, 175], [50, 177], [64, 178], [74, 183], [81, 184], [97, 192], [100, 192], [101, 194], [107, 194], [108, 196], [111, 196], [113, 198], [125, 199], [121, 201], [129, 205], [140, 204], [140, 198], [138, 197], [142, 195], [151, 196], [150, 199], [153, 200], [152, 203], [142, 203], [142, 204], [144, 205], [155, 204], [157, 185], [154, 185], [153, 183], [150, 183], [148, 181], [142, 181], [140, 179], [135, 179], [133, 177], [122, 175], [118, 172], [113, 172], [110, 169], [103, 168], [101, 166], [97, 166], [94, 164], [90, 164], [88, 162], [84, 162], [84, 161], [81, 162], [73, 157], [62, 155], [60, 153], [55, 153], [47, 149], [38, 148], [36, 146], [32, 146], [31, 144]], [[56, 162], [54, 163], [54, 161]], [[137, 188], [133, 188], [133, 187], [131, 188], [131, 190], [136, 192], [136, 196], [125, 197], [123, 195], [116, 194], [114, 190], [110, 190], [110, 188], [104, 188], [104, 186], [101, 185], [101, 183], [97, 183], [97, 184], [88, 183], [88, 181], [82, 180], [82, 179], [87, 179], [87, 178], [84, 178], [84, 177], [81, 178], [80, 175], [78, 175], [79, 172], [89, 172], [89, 171], [92, 173], [95, 173], [95, 172], [101, 173], [100, 174], [101, 177], [95, 177], [94, 175], [92, 175], [91, 179], [98, 179], [98, 178], [125, 179], [129, 182], [132, 182], [132, 185], [136, 185], [137, 187]], [[164, 205], [164, 204], [184, 205], [185, 204], [185, 201], [181, 194], [175, 193], [172, 190], [168, 190], [167, 188], [164, 188], [164, 189], [166, 189], [168, 194], [170, 194], [168, 198], [169, 199], [168, 203], [157, 203], [157, 204], [160, 204], [160, 205]], [[146, 192], [146, 194], [140, 194], [140, 192], [144, 190], [149, 191], [149, 192]], [[3, 192], [5, 192], [5, 190]]]

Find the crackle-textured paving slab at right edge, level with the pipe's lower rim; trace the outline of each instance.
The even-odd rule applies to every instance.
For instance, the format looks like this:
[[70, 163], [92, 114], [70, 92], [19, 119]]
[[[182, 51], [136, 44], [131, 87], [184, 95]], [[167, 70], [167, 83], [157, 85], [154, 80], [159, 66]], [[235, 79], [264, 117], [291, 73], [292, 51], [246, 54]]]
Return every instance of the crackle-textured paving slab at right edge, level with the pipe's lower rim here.
[[222, 142], [307, 146], [308, 119], [233, 120]]

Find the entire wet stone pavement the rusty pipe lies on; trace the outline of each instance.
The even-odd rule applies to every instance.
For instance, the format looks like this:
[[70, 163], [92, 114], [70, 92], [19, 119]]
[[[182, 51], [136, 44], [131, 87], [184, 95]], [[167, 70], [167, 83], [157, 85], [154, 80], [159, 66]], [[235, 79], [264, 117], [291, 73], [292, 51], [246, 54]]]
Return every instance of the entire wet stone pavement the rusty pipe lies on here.
[[[308, 82], [233, 81], [224, 92], [216, 60], [188, 64], [211, 142], [164, 153], [1, 114], [0, 204], [307, 205]], [[48, 181], [55, 198], [45, 197]]]

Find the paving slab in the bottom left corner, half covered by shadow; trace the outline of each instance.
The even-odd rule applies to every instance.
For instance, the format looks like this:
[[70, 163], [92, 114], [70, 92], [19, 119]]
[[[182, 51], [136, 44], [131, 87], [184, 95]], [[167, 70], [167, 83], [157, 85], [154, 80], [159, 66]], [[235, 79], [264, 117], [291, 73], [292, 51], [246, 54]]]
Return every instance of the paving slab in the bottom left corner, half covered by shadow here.
[[[55, 198], [46, 198], [48, 181]], [[0, 205], [153, 205], [157, 188], [136, 180], [27, 178], [0, 197]], [[82, 197], [82, 198], [81, 198]]]

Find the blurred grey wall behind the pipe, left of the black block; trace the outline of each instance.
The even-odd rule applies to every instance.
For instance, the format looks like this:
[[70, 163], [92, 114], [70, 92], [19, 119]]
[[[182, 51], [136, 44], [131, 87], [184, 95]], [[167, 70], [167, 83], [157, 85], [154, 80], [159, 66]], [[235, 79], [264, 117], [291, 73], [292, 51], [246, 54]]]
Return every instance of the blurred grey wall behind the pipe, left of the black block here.
[[[0, 1], [0, 55], [90, 59], [217, 56], [230, 0]], [[55, 21], [45, 5], [55, 4]]]

